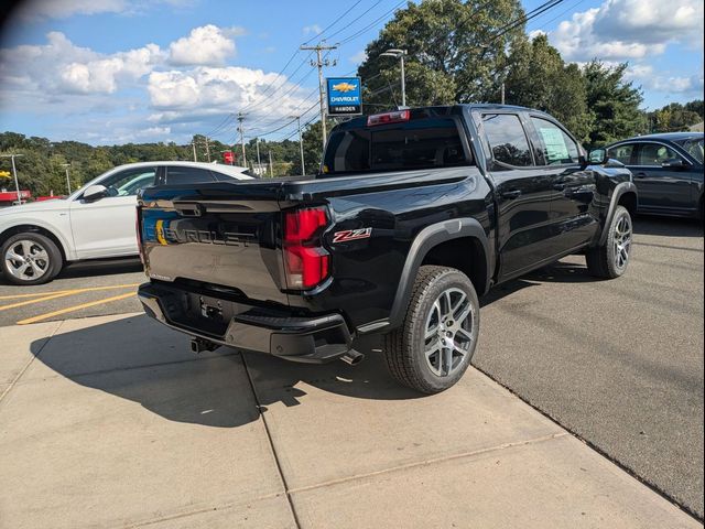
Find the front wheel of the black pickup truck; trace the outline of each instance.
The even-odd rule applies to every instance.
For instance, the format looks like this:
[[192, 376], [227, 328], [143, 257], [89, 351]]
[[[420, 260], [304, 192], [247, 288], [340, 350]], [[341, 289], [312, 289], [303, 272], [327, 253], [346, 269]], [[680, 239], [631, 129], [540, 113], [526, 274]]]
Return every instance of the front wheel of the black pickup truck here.
[[605, 244], [590, 249], [585, 260], [592, 276], [615, 279], [627, 271], [631, 256], [632, 224], [626, 207], [617, 206], [607, 229]]

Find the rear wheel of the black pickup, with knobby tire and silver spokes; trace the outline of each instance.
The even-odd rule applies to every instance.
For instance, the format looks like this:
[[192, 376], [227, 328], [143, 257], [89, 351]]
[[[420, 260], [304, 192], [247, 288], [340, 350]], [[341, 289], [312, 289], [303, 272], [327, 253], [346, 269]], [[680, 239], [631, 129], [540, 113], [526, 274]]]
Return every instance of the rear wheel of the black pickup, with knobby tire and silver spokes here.
[[454, 268], [421, 267], [402, 325], [384, 336], [392, 377], [429, 395], [452, 387], [470, 365], [479, 314], [467, 276]]

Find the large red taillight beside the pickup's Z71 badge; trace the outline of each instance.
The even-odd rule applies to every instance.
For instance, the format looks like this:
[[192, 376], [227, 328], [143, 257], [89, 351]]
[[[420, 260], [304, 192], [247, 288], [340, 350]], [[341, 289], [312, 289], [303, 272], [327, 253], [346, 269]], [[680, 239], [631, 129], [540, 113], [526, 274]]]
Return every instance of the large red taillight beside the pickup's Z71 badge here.
[[284, 267], [290, 289], [311, 289], [328, 277], [330, 256], [321, 246], [328, 225], [324, 208], [284, 213]]

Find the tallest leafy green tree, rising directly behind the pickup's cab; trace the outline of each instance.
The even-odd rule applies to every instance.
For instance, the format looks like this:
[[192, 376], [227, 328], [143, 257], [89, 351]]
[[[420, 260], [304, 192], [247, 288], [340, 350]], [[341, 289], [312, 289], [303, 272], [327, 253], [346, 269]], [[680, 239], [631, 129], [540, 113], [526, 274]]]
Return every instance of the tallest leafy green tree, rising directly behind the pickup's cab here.
[[422, 0], [398, 10], [367, 45], [358, 75], [366, 109], [373, 112], [401, 102], [399, 62], [380, 54], [403, 48], [406, 105], [497, 100], [506, 76], [506, 50], [522, 39], [523, 24], [502, 28], [523, 15], [517, 0]]

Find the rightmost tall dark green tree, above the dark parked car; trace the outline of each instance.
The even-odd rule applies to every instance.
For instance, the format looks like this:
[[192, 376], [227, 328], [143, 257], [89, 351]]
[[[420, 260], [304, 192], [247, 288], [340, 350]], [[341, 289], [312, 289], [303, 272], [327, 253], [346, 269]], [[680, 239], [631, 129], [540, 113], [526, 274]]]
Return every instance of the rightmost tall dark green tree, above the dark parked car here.
[[588, 144], [603, 145], [629, 138], [647, 129], [639, 109], [641, 90], [623, 79], [627, 64], [608, 66], [593, 61], [583, 67], [587, 93], [587, 109], [593, 127]]

